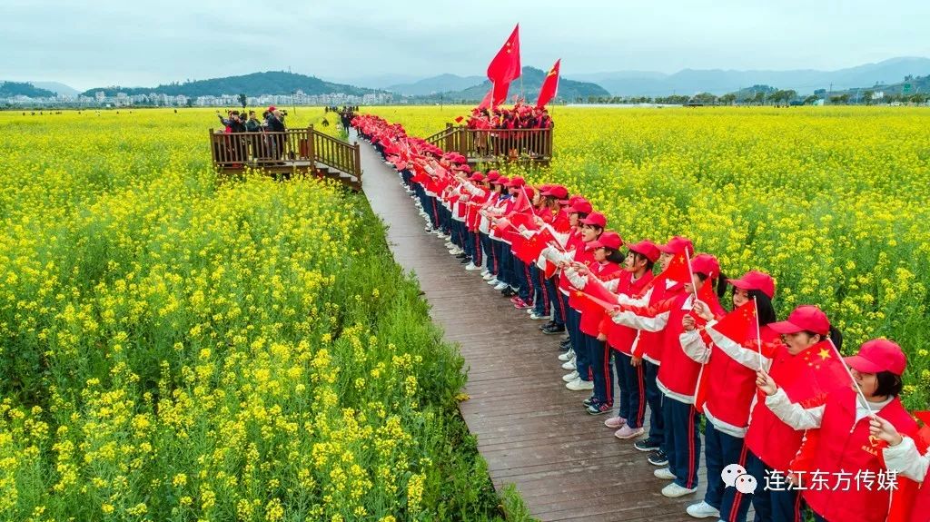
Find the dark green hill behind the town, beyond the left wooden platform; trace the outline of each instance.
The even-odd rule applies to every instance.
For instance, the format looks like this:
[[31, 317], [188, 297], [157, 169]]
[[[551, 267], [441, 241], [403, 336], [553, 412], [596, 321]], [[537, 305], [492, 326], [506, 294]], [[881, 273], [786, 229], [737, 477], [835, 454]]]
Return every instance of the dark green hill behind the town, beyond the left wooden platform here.
[[303, 94], [321, 95], [344, 93], [361, 96], [376, 92], [372, 89], [355, 87], [352, 85], [333, 84], [325, 82], [315, 76], [306, 76], [293, 72], [269, 71], [253, 72], [244, 76], [227, 76], [210, 80], [197, 80], [184, 84], [158, 85], [157, 87], [100, 87], [88, 89], [83, 94], [93, 96], [98, 91], [104, 91], [107, 96], [114, 96], [117, 92], [127, 95], [139, 94], [165, 94], [168, 96], [184, 95], [187, 97], [221, 96], [245, 94], [246, 96], [286, 95], [294, 91], [303, 91]]

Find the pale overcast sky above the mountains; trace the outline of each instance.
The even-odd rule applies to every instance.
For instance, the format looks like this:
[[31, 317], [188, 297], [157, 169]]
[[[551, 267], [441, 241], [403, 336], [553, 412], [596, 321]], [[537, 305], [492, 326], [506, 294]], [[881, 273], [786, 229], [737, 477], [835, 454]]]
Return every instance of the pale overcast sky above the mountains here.
[[520, 22], [562, 71], [835, 70], [930, 57], [930, 0], [0, 0], [0, 80], [78, 89], [257, 71], [484, 74]]

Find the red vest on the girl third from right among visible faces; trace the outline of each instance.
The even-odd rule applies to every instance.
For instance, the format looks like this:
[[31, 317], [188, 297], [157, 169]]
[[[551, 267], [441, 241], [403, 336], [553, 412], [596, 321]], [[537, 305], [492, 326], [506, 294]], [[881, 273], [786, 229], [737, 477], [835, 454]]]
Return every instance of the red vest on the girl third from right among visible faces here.
[[[767, 325], [760, 330], [764, 343], [774, 343], [778, 333]], [[750, 349], [750, 348], [740, 348]], [[750, 424], [752, 399], [759, 390], [756, 387], [756, 372], [743, 366], [720, 349], [711, 347], [711, 360], [704, 365], [707, 373], [707, 395], [703, 410], [716, 424], [725, 423], [734, 428], [745, 428]]]

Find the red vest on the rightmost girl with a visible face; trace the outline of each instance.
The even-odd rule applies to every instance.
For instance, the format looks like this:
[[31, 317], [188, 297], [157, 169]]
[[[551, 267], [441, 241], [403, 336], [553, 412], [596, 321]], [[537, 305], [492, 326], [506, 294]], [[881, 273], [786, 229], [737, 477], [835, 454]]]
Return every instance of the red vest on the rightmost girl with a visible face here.
[[[848, 383], [848, 377], [846, 381]], [[879, 472], [884, 473], [881, 440], [870, 437], [868, 417], [855, 422], [856, 401], [857, 393], [848, 386], [827, 397], [813, 463], [813, 469], [823, 472], [827, 483], [822, 488], [813, 489], [810, 475], [805, 475], [804, 482], [810, 489], [804, 491], [804, 500], [817, 515], [827, 520], [884, 522], [888, 515], [890, 491], [879, 489], [877, 479], [871, 488], [857, 488], [855, 480], [860, 470], [868, 470], [876, 477]], [[885, 405], [878, 416], [894, 424], [899, 433], [913, 434], [917, 431], [917, 423], [910, 418], [897, 397]], [[844, 487], [845, 481], [839, 483], [837, 473], [841, 471], [852, 476], [848, 490]], [[838, 483], [839, 487], [834, 490]]]

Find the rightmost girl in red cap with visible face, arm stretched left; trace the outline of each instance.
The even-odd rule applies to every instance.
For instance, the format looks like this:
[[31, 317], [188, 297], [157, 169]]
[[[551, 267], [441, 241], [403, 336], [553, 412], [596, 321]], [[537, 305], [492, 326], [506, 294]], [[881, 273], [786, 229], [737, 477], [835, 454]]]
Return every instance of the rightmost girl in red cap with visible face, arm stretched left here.
[[[873, 339], [845, 362], [855, 383], [847, 376], [841, 388], [805, 404], [792, 402], [764, 371], [758, 373], [757, 384], [765, 404], [782, 422], [796, 430], [818, 431], [816, 447], [810, 448], [811, 473], [801, 479], [814, 519], [883, 522], [894, 491], [881, 486], [881, 440], [870, 437], [870, 418], [881, 418], [898, 432], [916, 433], [917, 424], [898, 398], [907, 358], [897, 344]], [[874, 482], [860, 482], [867, 475]]]

